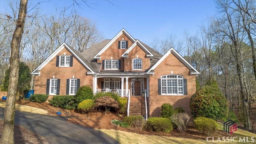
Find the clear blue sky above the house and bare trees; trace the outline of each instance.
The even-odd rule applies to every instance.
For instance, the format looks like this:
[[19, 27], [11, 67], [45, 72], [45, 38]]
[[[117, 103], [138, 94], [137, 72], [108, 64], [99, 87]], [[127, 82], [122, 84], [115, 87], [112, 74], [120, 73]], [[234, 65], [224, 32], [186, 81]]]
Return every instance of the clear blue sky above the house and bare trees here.
[[[29, 0], [33, 4], [42, 0]], [[50, 0], [39, 8], [52, 14], [56, 8], [70, 6], [72, 0]], [[77, 0], [77, 2], [81, 1]], [[87, 0], [78, 14], [96, 22], [105, 39], [112, 39], [122, 28], [133, 38], [152, 43], [154, 38], [164, 39], [170, 34], [182, 39], [184, 31], [196, 34], [198, 26], [216, 14], [213, 0]], [[0, 13], [6, 12], [8, 0], [0, 0]]]

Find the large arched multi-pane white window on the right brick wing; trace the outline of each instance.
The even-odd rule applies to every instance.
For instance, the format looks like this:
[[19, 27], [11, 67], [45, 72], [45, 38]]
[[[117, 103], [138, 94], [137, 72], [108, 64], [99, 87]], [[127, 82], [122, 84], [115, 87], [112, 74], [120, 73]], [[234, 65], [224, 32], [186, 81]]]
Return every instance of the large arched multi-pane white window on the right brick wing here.
[[183, 76], [165, 75], [161, 76], [162, 95], [183, 95]]

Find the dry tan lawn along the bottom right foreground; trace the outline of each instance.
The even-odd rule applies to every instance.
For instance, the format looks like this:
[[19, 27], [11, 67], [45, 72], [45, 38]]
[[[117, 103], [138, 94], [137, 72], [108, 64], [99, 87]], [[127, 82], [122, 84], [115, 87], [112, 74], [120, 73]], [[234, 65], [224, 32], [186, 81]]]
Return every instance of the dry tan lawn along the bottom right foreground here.
[[[223, 130], [222, 123], [218, 123], [219, 130]], [[102, 132], [108, 134], [112, 138], [118, 140], [121, 144], [141, 144], [141, 143], [150, 143], [150, 144], [209, 144], [206, 140], [200, 140], [200, 139], [191, 139], [191, 138], [178, 138], [178, 137], [168, 137], [168, 136], [148, 136], [148, 135], [142, 135], [142, 134], [136, 134], [131, 132], [124, 132], [120, 130], [101, 130]], [[233, 139], [234, 137], [234, 139]], [[245, 142], [240, 141], [239, 137], [244, 138]], [[256, 143], [256, 134], [248, 132], [246, 130], [242, 130], [238, 128], [236, 132], [232, 134], [232, 142], [228, 142], [229, 144], [248, 144], [246, 142], [246, 137], [248, 137], [248, 140], [252, 142], [251, 137], [254, 137], [254, 142]], [[220, 139], [222, 140], [222, 136], [220, 136]], [[212, 140], [210, 138], [209, 140]], [[214, 141], [216, 142], [218, 138], [214, 138]], [[222, 140], [223, 142], [223, 140]], [[221, 143], [221, 142], [218, 142]], [[225, 142], [226, 143], [226, 142]]]

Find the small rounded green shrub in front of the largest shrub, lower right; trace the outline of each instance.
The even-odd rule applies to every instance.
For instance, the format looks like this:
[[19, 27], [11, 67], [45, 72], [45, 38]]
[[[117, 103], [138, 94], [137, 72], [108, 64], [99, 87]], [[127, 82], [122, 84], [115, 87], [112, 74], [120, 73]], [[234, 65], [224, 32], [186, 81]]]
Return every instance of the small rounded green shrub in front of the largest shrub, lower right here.
[[218, 124], [211, 118], [198, 117], [194, 120], [196, 130], [209, 136], [218, 130]]

